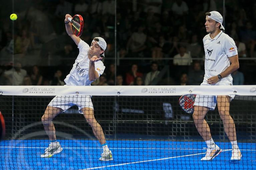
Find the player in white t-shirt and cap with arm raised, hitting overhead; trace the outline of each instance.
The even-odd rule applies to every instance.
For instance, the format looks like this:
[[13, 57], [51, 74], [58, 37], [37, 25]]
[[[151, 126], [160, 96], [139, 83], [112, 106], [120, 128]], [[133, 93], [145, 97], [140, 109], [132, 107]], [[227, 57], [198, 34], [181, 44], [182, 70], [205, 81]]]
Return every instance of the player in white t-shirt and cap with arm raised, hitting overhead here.
[[[74, 35], [68, 18], [72, 17], [71, 15], [66, 14], [66, 31], [77, 45], [79, 54], [75, 60], [75, 63], [73, 64], [73, 68], [66, 76], [64, 81], [66, 85], [90, 85], [104, 72], [105, 66], [103, 65], [101, 59], [104, 55], [107, 44], [103, 38], [96, 37], [92, 40], [91, 46], [89, 46], [79, 37]], [[62, 151], [62, 148], [56, 139], [55, 127], [52, 120], [59, 113], [66, 111], [73, 105], [77, 105], [79, 112], [84, 115], [86, 121], [92, 127], [93, 134], [98, 139], [103, 148], [103, 153], [101, 154], [99, 160], [113, 160], [112, 153], [106, 144], [102, 128], [94, 118], [93, 105], [90, 95], [55, 96], [51, 100], [44, 112], [44, 115], [42, 116], [44, 129], [49, 137], [50, 144], [49, 147], [44, 150], [45, 153], [42, 154], [41, 157], [48, 158]]]

